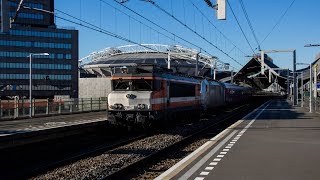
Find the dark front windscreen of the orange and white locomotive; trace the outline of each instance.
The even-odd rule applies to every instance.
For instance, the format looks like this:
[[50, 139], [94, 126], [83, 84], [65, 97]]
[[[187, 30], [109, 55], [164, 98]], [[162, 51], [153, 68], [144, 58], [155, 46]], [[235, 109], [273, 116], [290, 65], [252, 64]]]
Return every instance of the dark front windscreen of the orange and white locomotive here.
[[114, 91], [151, 91], [153, 90], [152, 80], [113, 80], [112, 89]]

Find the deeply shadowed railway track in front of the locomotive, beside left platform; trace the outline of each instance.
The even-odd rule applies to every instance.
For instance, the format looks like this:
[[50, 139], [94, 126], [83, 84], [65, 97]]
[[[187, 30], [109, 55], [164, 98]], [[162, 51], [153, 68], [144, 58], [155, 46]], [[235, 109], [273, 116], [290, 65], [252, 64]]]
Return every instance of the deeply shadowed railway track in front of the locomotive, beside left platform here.
[[[105, 133], [104, 131], [108, 131]], [[121, 133], [123, 133], [121, 135]], [[45, 173], [50, 169], [76, 162], [88, 156], [123, 146], [146, 137], [146, 134], [118, 132], [101, 127], [70, 137], [57, 138], [13, 148], [1, 149], [4, 168], [0, 179], [21, 179]]]

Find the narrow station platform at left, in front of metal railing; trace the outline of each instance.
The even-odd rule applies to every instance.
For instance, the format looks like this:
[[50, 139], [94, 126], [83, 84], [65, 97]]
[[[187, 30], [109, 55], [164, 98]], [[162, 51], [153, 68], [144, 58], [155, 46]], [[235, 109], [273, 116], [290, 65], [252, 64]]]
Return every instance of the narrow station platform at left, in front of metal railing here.
[[107, 112], [87, 112], [59, 116], [0, 121], [0, 149], [58, 138], [88, 127], [106, 124]]

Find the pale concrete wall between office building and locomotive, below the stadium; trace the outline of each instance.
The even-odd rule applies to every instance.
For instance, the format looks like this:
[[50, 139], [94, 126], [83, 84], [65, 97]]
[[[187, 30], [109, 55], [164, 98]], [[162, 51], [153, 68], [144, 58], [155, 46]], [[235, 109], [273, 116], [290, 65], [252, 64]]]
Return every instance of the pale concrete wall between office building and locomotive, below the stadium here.
[[111, 92], [110, 78], [80, 78], [79, 98], [107, 97]]

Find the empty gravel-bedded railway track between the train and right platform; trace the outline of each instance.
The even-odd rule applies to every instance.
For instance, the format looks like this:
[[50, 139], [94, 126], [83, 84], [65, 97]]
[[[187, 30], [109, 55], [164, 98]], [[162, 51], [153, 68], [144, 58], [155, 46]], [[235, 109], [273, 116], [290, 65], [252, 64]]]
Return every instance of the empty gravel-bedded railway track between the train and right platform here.
[[[34, 179], [123, 179], [123, 175], [134, 174], [138, 167], [162, 157], [166, 152], [190, 144], [192, 139], [202, 136], [208, 129], [219, 126], [219, 133], [230, 119], [245, 113], [250, 108], [244, 105], [229, 113], [202, 119], [199, 122], [174, 127], [165, 132], [158, 131], [153, 135], [141, 137], [135, 141], [128, 141], [123, 146], [117, 146], [105, 152], [104, 148], [83, 153], [77, 157], [66, 158], [61, 164], [67, 165], [51, 169], [44, 174], [34, 176]], [[220, 127], [221, 125], [221, 127]], [[227, 126], [225, 126], [227, 127]], [[87, 157], [86, 157], [87, 156]], [[77, 160], [76, 159], [80, 159]], [[135, 175], [133, 175], [134, 177]]]

